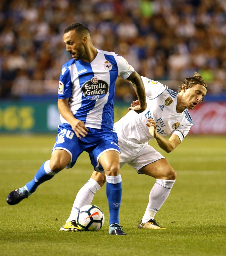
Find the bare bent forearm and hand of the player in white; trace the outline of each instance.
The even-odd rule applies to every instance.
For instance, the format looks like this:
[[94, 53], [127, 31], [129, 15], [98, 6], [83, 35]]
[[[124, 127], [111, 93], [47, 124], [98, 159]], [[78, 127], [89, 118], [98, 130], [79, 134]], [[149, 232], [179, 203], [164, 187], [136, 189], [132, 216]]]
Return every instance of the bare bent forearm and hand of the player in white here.
[[181, 143], [176, 134], [173, 134], [169, 139], [165, 139], [160, 136], [157, 132], [156, 123], [153, 119], [147, 119], [146, 125], [148, 126], [150, 135], [155, 138], [160, 148], [165, 150], [167, 153], [173, 151]]

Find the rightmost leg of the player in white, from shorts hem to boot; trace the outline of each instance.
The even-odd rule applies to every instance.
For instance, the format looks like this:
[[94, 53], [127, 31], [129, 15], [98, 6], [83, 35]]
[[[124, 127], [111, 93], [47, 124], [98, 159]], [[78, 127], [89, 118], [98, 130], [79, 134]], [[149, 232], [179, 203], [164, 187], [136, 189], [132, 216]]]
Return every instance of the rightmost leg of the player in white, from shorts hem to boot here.
[[144, 166], [139, 172], [155, 177], [156, 183], [150, 191], [149, 202], [138, 228], [165, 229], [158, 225], [154, 216], [169, 196], [173, 184], [175, 183], [176, 172], [165, 158]]

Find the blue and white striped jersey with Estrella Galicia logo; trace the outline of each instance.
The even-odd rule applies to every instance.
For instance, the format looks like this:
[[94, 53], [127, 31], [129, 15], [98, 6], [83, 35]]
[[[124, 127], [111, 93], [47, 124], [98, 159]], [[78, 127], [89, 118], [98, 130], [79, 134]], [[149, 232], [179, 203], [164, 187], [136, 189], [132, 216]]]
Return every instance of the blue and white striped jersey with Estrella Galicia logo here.
[[[115, 81], [118, 75], [126, 79], [133, 71], [122, 56], [97, 49], [91, 63], [71, 59], [62, 66], [58, 98], [69, 98], [74, 117], [86, 127], [112, 129]], [[61, 115], [60, 120], [68, 123]]]

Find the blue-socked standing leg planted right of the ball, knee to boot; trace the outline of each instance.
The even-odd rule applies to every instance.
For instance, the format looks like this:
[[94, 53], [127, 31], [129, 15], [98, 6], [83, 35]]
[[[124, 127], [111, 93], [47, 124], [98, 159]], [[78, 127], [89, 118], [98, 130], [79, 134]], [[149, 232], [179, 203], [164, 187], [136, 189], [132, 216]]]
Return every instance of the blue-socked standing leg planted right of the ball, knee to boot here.
[[110, 212], [109, 234], [126, 235], [119, 224], [119, 209], [122, 198], [122, 178], [120, 175], [120, 154], [115, 150], [104, 152], [98, 162], [104, 168], [106, 174], [106, 194]]

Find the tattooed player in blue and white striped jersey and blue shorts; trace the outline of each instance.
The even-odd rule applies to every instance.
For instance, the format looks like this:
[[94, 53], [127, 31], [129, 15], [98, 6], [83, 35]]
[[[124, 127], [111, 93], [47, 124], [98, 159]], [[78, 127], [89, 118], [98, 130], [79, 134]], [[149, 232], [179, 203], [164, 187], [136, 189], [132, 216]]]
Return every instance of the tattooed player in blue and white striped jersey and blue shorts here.
[[72, 59], [63, 65], [60, 74], [58, 110], [62, 124], [58, 126], [51, 159], [24, 187], [12, 191], [7, 203], [14, 205], [27, 198], [59, 171], [72, 168], [86, 151], [94, 169], [106, 174], [109, 234], [125, 235], [119, 222], [122, 179], [118, 137], [113, 131], [114, 85], [118, 75], [133, 82], [140, 100], [135, 111], [141, 113], [147, 107], [143, 81], [123, 57], [96, 49], [83, 24], [73, 23], [66, 28], [64, 43]]

